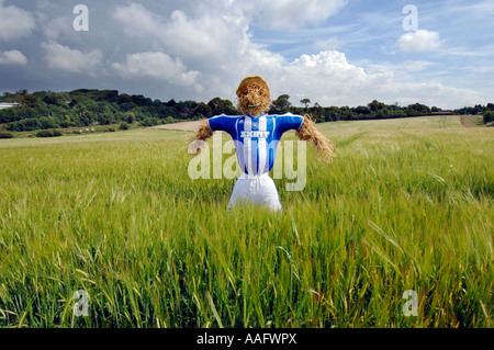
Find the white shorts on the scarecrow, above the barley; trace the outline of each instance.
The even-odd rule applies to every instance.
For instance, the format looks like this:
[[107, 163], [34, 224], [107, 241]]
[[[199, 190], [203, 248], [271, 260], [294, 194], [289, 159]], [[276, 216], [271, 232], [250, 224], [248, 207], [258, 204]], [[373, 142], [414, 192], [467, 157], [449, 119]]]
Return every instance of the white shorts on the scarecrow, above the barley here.
[[271, 211], [281, 211], [281, 203], [274, 181], [268, 173], [261, 176], [248, 176], [244, 173], [237, 179], [228, 202], [228, 207], [239, 202], [249, 202], [261, 205]]

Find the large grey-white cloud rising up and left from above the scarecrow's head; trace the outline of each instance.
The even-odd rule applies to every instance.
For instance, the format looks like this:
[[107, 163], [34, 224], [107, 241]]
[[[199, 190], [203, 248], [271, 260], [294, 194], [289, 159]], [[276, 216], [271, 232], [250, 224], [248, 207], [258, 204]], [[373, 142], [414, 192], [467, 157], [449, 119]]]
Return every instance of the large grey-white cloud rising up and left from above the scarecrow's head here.
[[[198, 12], [175, 10], [169, 16], [160, 18], [142, 4], [131, 3], [119, 7], [114, 19], [125, 25], [130, 39], [147, 41], [159, 52], [179, 57], [187, 67], [201, 71], [202, 79], [209, 83], [221, 78], [232, 87], [234, 81], [237, 83], [237, 76], [283, 60], [281, 55], [252, 43], [249, 22], [238, 13], [238, 8], [216, 4]], [[215, 84], [220, 89], [217, 93], [226, 91], [223, 87]]]

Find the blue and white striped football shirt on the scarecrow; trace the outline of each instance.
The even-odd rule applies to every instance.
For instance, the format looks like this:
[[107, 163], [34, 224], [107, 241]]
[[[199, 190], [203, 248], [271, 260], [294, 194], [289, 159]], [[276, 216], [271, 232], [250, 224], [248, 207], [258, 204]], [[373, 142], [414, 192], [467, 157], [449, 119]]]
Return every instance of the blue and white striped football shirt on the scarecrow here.
[[240, 169], [257, 176], [272, 169], [281, 136], [289, 129], [299, 129], [303, 120], [302, 115], [291, 113], [257, 117], [221, 114], [207, 122], [213, 132], [222, 131], [232, 136]]

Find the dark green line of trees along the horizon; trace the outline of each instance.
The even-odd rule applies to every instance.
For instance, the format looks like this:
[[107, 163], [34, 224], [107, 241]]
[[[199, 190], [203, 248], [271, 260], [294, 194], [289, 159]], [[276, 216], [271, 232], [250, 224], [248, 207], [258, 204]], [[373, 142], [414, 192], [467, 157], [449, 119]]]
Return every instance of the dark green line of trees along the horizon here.
[[[11, 132], [32, 132], [38, 129], [56, 129], [85, 127], [90, 125], [134, 124], [153, 126], [181, 121], [194, 121], [218, 114], [238, 114], [229, 100], [214, 98], [205, 102], [179, 101], [168, 102], [151, 100], [142, 94], [119, 93], [117, 90], [78, 89], [69, 92], [37, 91], [29, 93], [19, 90], [15, 93], [4, 92], [0, 102], [16, 102], [18, 106], [0, 110], [2, 128]], [[303, 106], [295, 106], [290, 95], [282, 94], [273, 100], [270, 114], [305, 114], [310, 113], [316, 122], [377, 120], [423, 116], [445, 113], [436, 106], [415, 103], [401, 106], [397, 103], [385, 104], [377, 100], [367, 105], [321, 106], [311, 100], [300, 101]], [[492, 111], [492, 112], [491, 112]], [[456, 114], [494, 113], [494, 104], [475, 105], [450, 111]], [[485, 118], [484, 118], [485, 121]]]

